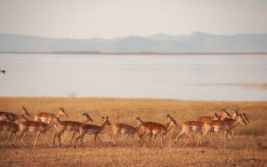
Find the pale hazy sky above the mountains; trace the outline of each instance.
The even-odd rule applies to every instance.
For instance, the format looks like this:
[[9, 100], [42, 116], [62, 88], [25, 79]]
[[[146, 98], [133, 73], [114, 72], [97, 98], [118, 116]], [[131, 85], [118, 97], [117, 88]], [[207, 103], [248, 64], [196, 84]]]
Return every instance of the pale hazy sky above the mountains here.
[[0, 0], [0, 33], [52, 37], [267, 33], [267, 0]]

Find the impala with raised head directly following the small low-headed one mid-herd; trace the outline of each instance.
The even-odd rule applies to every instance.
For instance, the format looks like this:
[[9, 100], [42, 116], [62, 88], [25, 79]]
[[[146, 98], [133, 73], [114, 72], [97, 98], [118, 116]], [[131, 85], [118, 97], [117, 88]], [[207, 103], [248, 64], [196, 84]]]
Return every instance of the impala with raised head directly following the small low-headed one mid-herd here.
[[98, 134], [101, 133], [101, 131], [104, 129], [106, 125], [110, 125], [109, 123], [109, 117], [103, 117], [102, 116], [102, 124], [101, 126], [98, 125], [93, 125], [93, 124], [82, 124], [81, 127], [79, 128], [80, 136], [77, 137], [75, 147], [77, 146], [77, 141], [80, 139], [82, 146], [85, 148], [84, 145], [84, 139], [85, 139], [85, 134], [93, 134], [93, 147], [95, 143], [95, 139], [97, 138], [102, 146], [101, 139], [98, 137]]

